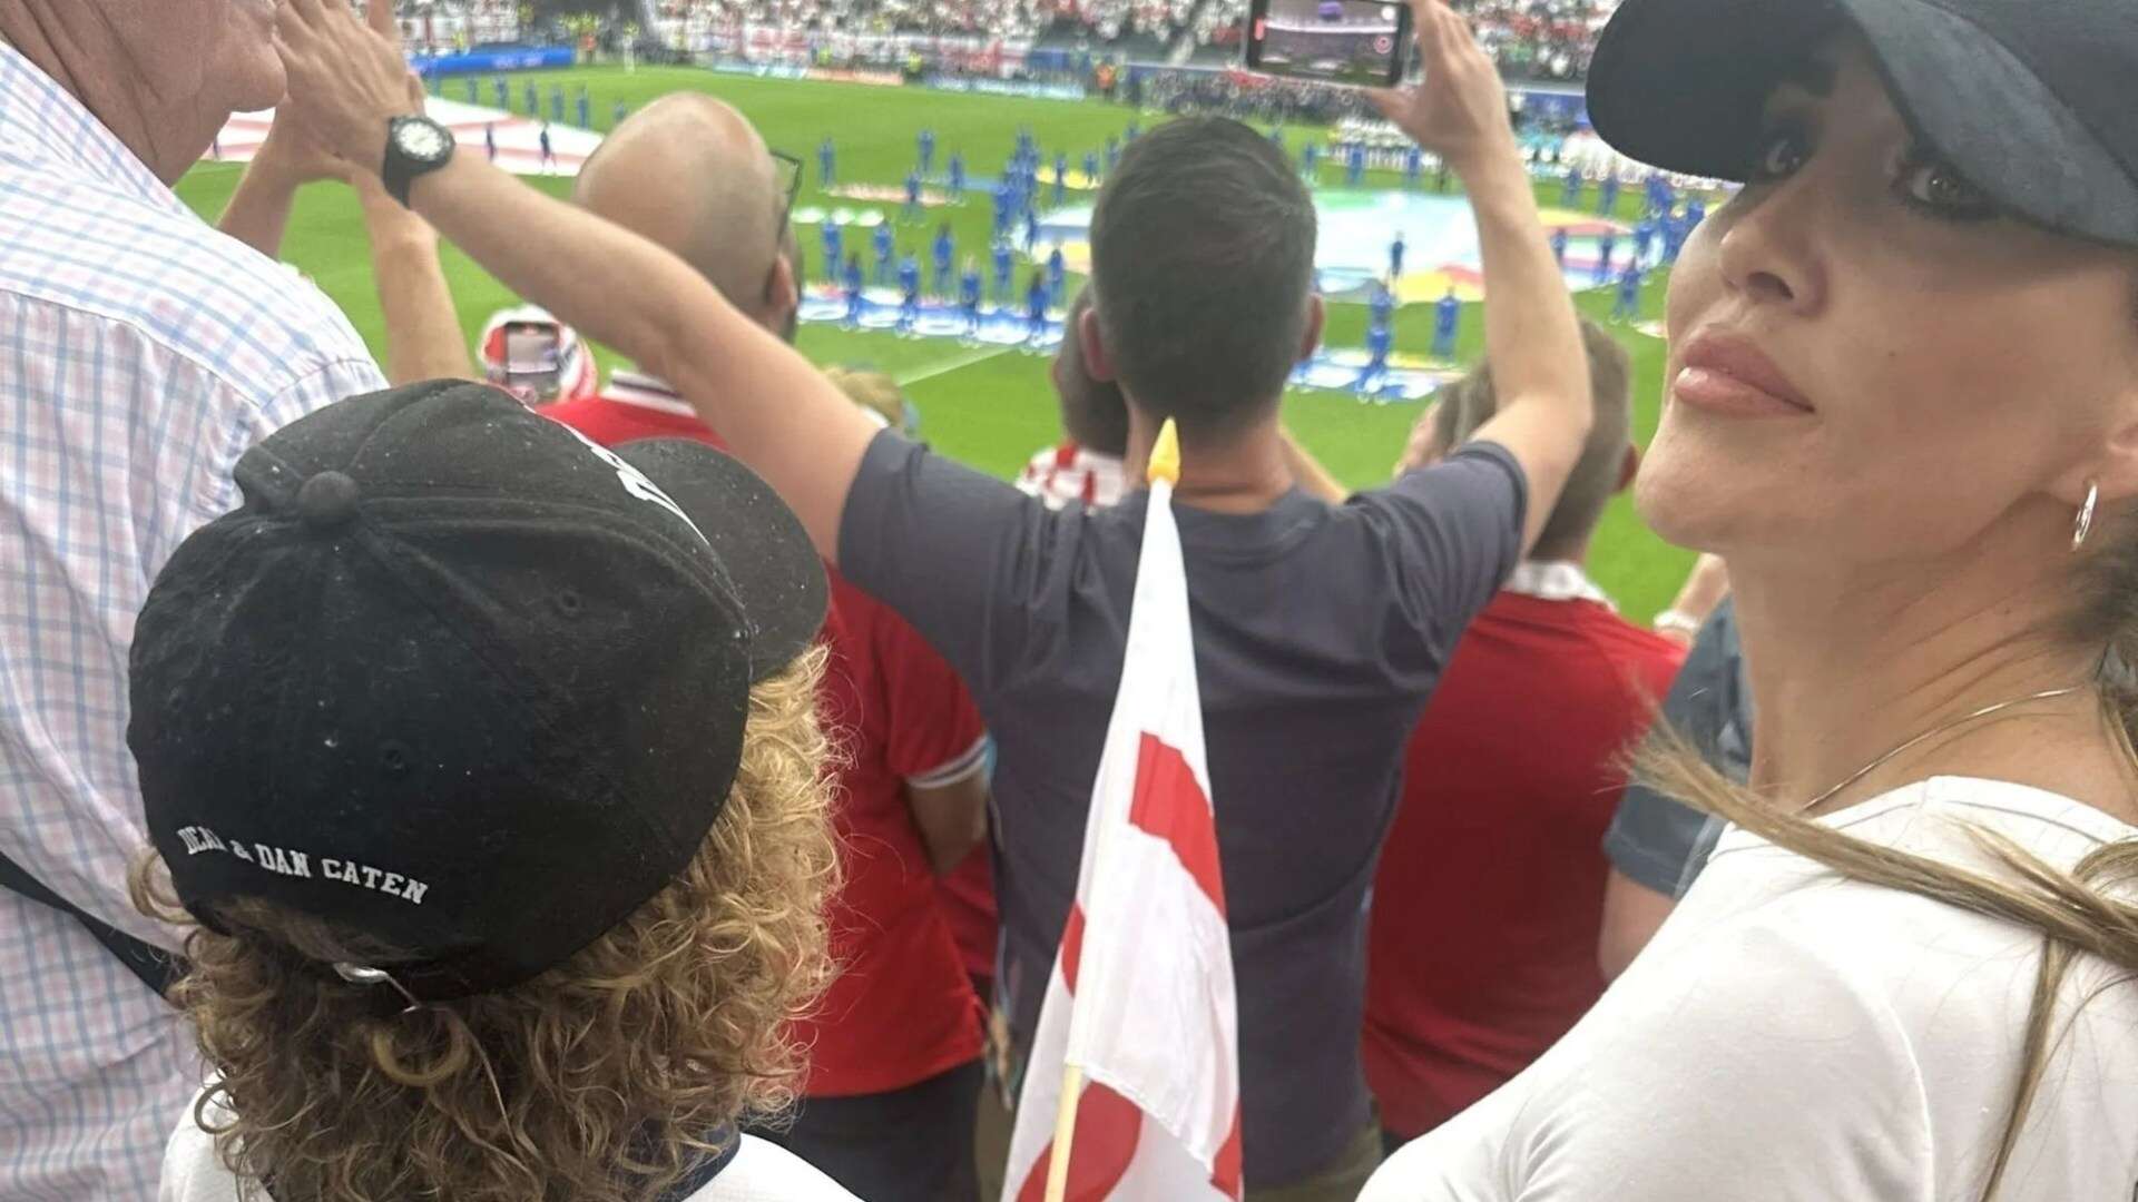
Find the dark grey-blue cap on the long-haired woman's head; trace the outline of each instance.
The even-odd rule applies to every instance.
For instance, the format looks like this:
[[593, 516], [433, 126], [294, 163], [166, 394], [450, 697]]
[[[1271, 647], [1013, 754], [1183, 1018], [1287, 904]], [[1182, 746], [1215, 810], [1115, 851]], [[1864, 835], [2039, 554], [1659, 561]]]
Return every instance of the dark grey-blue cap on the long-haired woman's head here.
[[1990, 199], [2138, 246], [2138, 0], [1625, 0], [1589, 118], [1631, 158], [1742, 182], [1768, 92], [1845, 26], [1916, 135]]

